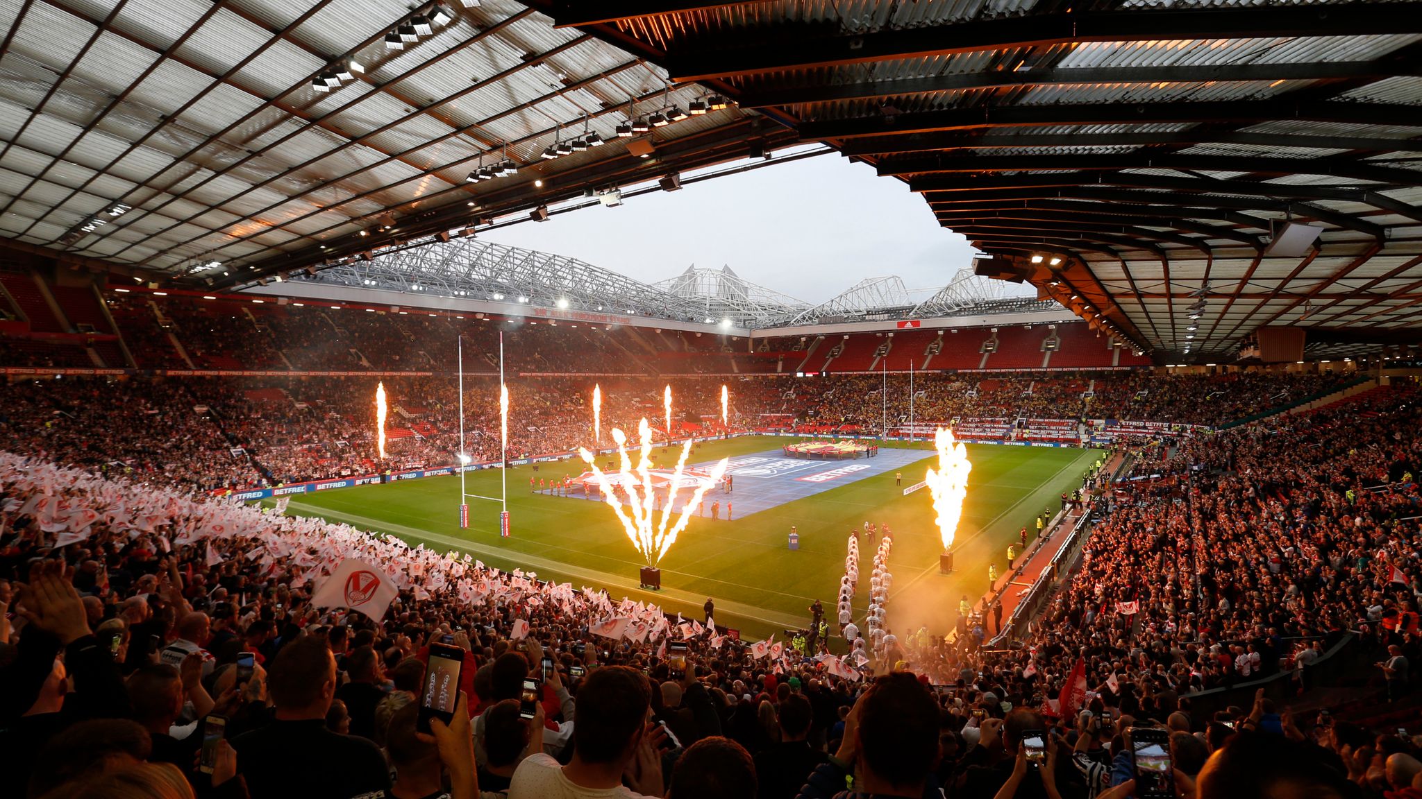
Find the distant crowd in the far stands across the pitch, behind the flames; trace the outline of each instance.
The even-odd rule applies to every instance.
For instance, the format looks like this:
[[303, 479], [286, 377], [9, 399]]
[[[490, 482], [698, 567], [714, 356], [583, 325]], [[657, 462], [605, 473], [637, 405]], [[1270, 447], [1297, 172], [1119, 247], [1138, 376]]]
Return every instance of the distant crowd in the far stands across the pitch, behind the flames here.
[[[1078, 414], [1160, 412], [1146, 421], [1223, 422], [1250, 402], [1281, 404], [1337, 385], [1338, 377], [1221, 375], [1075, 380], [944, 377], [916, 381], [919, 424], [968, 418], [1076, 418]], [[0, 387], [0, 445], [61, 463], [142, 473], [191, 489], [282, 485], [385, 469], [437, 468], [459, 454], [458, 388], [445, 378], [385, 378], [390, 395], [387, 458], [375, 442], [373, 378], [125, 378], [14, 381]], [[663, 418], [661, 391], [650, 378], [520, 378], [509, 384], [509, 456], [559, 455], [592, 435], [592, 390], [603, 391], [603, 428], [636, 429]], [[678, 378], [677, 435], [717, 435], [718, 378]], [[835, 429], [877, 434], [880, 378], [748, 378], [731, 381], [729, 431]], [[1094, 385], [1096, 400], [1084, 400]], [[1138, 397], [1170, 397], [1166, 409]], [[889, 419], [909, 421], [909, 385], [889, 378]], [[1108, 400], [1101, 400], [1108, 397]], [[1123, 405], [1102, 405], [1125, 398]], [[1229, 412], [1224, 412], [1224, 409]], [[657, 435], [664, 424], [656, 425]], [[499, 456], [498, 382], [465, 382], [465, 454]]]

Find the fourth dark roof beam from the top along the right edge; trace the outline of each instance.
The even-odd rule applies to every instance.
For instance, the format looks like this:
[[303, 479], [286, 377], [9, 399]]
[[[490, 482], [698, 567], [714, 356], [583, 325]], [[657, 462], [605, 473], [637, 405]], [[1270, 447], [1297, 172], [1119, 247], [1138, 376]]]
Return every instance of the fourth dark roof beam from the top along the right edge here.
[[884, 136], [860, 136], [845, 141], [839, 152], [845, 155], [879, 155], [884, 152], [939, 152], [946, 149], [991, 149], [1000, 146], [1156, 146], [1196, 144], [1237, 144], [1253, 146], [1303, 146], [1318, 149], [1362, 149], [1378, 152], [1422, 152], [1422, 139], [1392, 139], [1381, 136], [1315, 136], [1303, 134], [1250, 134], [1207, 129], [1160, 131], [1138, 134], [956, 134], [930, 132]]

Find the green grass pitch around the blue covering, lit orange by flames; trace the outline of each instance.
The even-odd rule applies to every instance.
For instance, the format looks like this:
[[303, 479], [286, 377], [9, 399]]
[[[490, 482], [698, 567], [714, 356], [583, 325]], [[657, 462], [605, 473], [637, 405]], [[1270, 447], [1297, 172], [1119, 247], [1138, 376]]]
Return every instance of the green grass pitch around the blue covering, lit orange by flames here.
[[[747, 436], [698, 445], [694, 462], [748, 455], [778, 448], [785, 439]], [[924, 459], [903, 469], [904, 485], [923, 479]], [[1007, 566], [1007, 546], [1018, 530], [1051, 508], [1058, 496], [1081, 485], [1096, 451], [968, 445], [973, 475], [963, 523], [954, 545], [957, 572], [939, 574], [937, 527], [927, 489], [909, 496], [894, 486], [893, 472], [849, 482], [811, 498], [732, 522], [693, 518], [661, 560], [661, 591], [637, 587], [641, 556], [633, 549], [606, 505], [584, 499], [532, 495], [532, 466], [509, 469], [512, 535], [498, 535], [496, 502], [471, 500], [469, 527], [459, 529], [459, 478], [428, 478], [388, 485], [338, 489], [294, 498], [287, 513], [323, 516], [361, 529], [395, 533], [438, 550], [469, 552], [489, 566], [522, 567], [542, 579], [599, 586], [613, 596], [650, 599], [670, 611], [700, 617], [705, 597], [715, 597], [717, 621], [765, 636], [808, 620], [808, 606], [819, 597], [833, 606], [843, 574], [846, 533], [865, 520], [887, 523], [894, 532], [889, 600], [890, 628], [943, 630], [951, 624], [957, 600], [974, 600], [987, 589], [987, 566]], [[542, 463], [542, 475], [577, 473], [580, 463]], [[468, 492], [499, 495], [498, 471], [472, 472]], [[742, 481], [737, 481], [738, 488]], [[710, 496], [710, 495], [708, 495]], [[724, 496], [721, 498], [724, 505]], [[732, 495], [734, 499], [734, 495]], [[269, 500], [270, 503], [270, 500]], [[801, 549], [786, 547], [791, 525], [799, 529]], [[863, 553], [867, 563], [872, 553]], [[865, 567], [856, 608], [867, 594]], [[856, 611], [856, 616], [859, 613]]]

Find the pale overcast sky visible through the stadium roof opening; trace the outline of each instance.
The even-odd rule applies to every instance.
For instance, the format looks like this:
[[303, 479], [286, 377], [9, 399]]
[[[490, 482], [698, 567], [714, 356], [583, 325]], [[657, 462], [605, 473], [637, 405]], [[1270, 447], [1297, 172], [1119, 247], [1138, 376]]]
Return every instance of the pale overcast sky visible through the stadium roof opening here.
[[646, 283], [695, 263], [819, 303], [865, 277], [946, 284], [971, 263], [923, 198], [838, 154], [520, 223], [481, 239], [572, 256]]

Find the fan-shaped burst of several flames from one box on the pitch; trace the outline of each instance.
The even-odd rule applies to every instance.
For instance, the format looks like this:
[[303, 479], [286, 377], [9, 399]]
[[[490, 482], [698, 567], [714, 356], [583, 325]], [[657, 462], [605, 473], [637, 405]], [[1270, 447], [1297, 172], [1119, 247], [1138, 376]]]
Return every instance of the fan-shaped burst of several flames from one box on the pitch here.
[[691, 454], [691, 439], [687, 439], [681, 445], [681, 456], [677, 458], [677, 468], [673, 471], [671, 485], [667, 488], [667, 503], [663, 506], [661, 518], [658, 519], [651, 502], [654, 496], [651, 489], [651, 425], [647, 424], [646, 418], [637, 425], [637, 432], [641, 436], [641, 448], [637, 466], [633, 468], [631, 458], [627, 455], [627, 434], [619, 428], [613, 428], [613, 441], [617, 442], [620, 461], [617, 472], [624, 478], [624, 485], [641, 488], [641, 492], [627, 492], [627, 505], [631, 513], [623, 509], [621, 502], [617, 500], [611, 482], [597, 468], [593, 454], [584, 448], [579, 448], [577, 454], [593, 469], [593, 479], [597, 481], [599, 488], [603, 490], [603, 500], [617, 515], [617, 520], [621, 522], [627, 539], [637, 547], [643, 559], [646, 559], [647, 566], [654, 567], [661, 562], [661, 556], [667, 554], [671, 545], [675, 543], [681, 530], [687, 527], [687, 523], [691, 520], [691, 510], [701, 506], [701, 498], [705, 496], [705, 492], [721, 482], [729, 459], [722, 458], [711, 469], [710, 481], [697, 485], [691, 492], [691, 498], [681, 506], [675, 522], [673, 522], [671, 508], [677, 503], [677, 495], [681, 493], [681, 475], [687, 465], [687, 455]]

